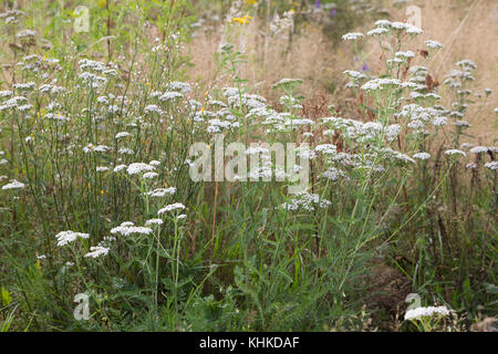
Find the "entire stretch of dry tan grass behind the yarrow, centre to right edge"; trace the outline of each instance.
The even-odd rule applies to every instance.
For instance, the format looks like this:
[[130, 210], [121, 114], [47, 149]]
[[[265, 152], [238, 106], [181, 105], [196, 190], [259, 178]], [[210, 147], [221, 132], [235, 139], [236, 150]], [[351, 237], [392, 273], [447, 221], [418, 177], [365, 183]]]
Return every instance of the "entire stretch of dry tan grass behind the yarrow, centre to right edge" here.
[[[498, 42], [498, 3], [494, 0], [417, 0], [403, 8], [393, 7], [391, 0], [381, 0], [380, 3], [388, 10], [393, 21], [406, 20], [407, 6], [416, 4], [422, 9], [424, 34], [408, 43], [409, 48], [423, 49], [427, 39], [439, 41], [445, 48], [429, 62], [418, 58], [413, 64], [423, 62], [439, 82], [459, 60], [470, 59], [478, 64], [473, 84], [476, 92], [484, 93], [484, 88], [491, 88], [494, 93], [481, 111], [478, 112], [477, 107], [469, 111], [466, 118], [471, 128], [468, 133], [474, 136], [475, 143], [495, 144], [498, 119], [492, 111], [498, 106], [495, 48]], [[350, 43], [334, 45], [319, 23], [300, 27], [298, 34], [291, 38], [267, 38], [262, 34], [264, 25], [261, 20], [245, 25], [236, 42], [236, 46], [248, 56], [248, 63], [241, 67], [242, 76], [256, 83], [259, 93], [274, 101], [276, 93], [270, 90], [272, 83], [282, 77], [299, 77], [304, 80], [301, 93], [305, 96], [325, 91], [330, 103], [344, 102], [349, 97], [350, 93], [342, 90], [345, 83], [342, 72], [361, 65], [353, 62]], [[366, 32], [371, 28], [372, 23], [364, 23], [356, 30]], [[198, 32], [187, 48], [195, 64], [189, 71], [191, 79], [200, 79], [209, 85], [216, 76], [217, 85], [228, 83], [227, 77], [216, 74], [214, 59], [220, 43], [226, 40], [224, 33], [225, 28], [220, 25], [211, 31]], [[381, 64], [380, 49], [373, 41], [371, 43], [370, 48], [365, 48], [369, 53], [366, 61], [375, 71]], [[446, 87], [442, 85], [438, 90], [445, 96]], [[450, 102], [443, 104], [449, 106]]]

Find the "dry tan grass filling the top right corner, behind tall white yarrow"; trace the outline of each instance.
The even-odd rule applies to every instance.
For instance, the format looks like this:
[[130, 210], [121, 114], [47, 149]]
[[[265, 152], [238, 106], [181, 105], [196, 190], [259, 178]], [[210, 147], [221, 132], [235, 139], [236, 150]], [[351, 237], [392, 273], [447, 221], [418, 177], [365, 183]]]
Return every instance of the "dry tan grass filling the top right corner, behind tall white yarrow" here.
[[[484, 88], [494, 92], [478, 114], [470, 108], [466, 117], [471, 124], [468, 134], [476, 143], [494, 144], [498, 138], [498, 119], [494, 108], [498, 107], [498, 2], [494, 0], [417, 0], [413, 4], [422, 9], [424, 34], [417, 39], [422, 48], [426, 39], [445, 45], [427, 65], [442, 82], [443, 77], [463, 59], [477, 63], [475, 92]], [[404, 9], [393, 9], [392, 15], [403, 19]], [[440, 92], [444, 93], [444, 87]], [[443, 95], [444, 96], [444, 95]], [[450, 102], [444, 102], [449, 106]]]

